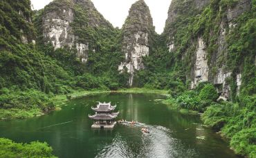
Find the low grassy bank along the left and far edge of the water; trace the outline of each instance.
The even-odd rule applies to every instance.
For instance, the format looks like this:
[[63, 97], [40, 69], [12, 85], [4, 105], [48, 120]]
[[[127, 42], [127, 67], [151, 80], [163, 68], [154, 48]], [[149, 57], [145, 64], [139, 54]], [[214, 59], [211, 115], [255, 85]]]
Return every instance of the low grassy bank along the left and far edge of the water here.
[[[120, 93], [155, 93], [159, 95], [167, 96], [167, 90], [152, 90], [147, 88], [129, 88], [120, 90], [73, 90], [73, 92], [67, 95], [43, 95], [40, 92], [19, 92], [14, 93], [13, 97], [6, 97], [8, 100], [15, 102], [15, 105], [22, 104], [15, 108], [0, 108], [0, 119], [27, 119], [30, 117], [39, 117], [48, 114], [53, 110], [61, 110], [61, 106], [64, 105], [69, 99], [76, 99], [80, 97], [86, 97], [89, 95], [98, 95], [102, 93], [120, 92]], [[7, 94], [8, 95], [8, 94]], [[9, 94], [10, 95], [10, 94]], [[29, 96], [29, 97], [28, 97]], [[17, 99], [22, 98], [22, 99]], [[28, 99], [29, 98], [29, 99]], [[43, 99], [41, 99], [43, 98]], [[6, 101], [6, 102], [10, 102]], [[26, 103], [29, 108], [25, 108]], [[31, 105], [30, 105], [31, 104]], [[39, 106], [35, 106], [35, 104]], [[49, 106], [48, 106], [49, 105]], [[24, 107], [24, 108], [22, 108]]]

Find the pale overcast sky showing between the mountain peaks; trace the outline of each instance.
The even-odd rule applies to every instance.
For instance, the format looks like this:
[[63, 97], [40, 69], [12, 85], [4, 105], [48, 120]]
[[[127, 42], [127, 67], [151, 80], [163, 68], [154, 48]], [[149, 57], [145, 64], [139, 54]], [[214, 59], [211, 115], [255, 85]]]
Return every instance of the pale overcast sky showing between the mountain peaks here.
[[[44, 8], [52, 0], [31, 0], [35, 10]], [[105, 19], [110, 21], [114, 27], [122, 28], [131, 4], [137, 0], [91, 0], [95, 8], [103, 14]], [[167, 19], [167, 12], [172, 0], [145, 0], [149, 6], [156, 32], [161, 34], [165, 27], [165, 20]]]

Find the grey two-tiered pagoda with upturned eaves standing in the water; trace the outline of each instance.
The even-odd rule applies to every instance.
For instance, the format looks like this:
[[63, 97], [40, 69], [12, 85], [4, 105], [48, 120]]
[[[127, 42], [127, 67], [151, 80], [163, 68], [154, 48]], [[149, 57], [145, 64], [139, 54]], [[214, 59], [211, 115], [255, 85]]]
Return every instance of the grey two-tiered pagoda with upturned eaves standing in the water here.
[[111, 103], [98, 103], [96, 108], [91, 107], [95, 111], [95, 115], [89, 115], [90, 119], [93, 119], [93, 125], [91, 128], [113, 128], [116, 125], [116, 117], [119, 112], [113, 112], [116, 106], [111, 106]]

